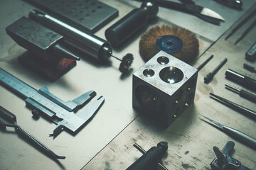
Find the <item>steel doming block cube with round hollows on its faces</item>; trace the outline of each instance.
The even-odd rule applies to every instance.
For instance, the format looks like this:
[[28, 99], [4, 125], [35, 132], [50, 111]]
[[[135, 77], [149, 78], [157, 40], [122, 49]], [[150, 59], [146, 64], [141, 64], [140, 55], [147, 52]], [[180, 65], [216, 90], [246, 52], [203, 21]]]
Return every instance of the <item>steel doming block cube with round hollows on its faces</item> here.
[[159, 52], [134, 72], [132, 106], [168, 127], [191, 106], [198, 70]]

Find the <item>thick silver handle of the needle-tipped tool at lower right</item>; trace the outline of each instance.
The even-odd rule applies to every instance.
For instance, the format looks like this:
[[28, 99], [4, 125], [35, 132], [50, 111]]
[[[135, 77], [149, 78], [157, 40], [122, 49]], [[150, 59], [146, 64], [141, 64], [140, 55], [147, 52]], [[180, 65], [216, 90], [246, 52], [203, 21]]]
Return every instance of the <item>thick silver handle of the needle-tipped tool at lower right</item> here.
[[228, 126], [223, 126], [223, 130], [230, 136], [233, 136], [243, 142], [246, 145], [250, 145], [250, 147], [256, 149], [256, 139], [253, 137], [250, 137], [249, 135], [246, 135], [243, 132], [240, 132], [239, 130], [235, 130], [233, 128], [230, 128]]

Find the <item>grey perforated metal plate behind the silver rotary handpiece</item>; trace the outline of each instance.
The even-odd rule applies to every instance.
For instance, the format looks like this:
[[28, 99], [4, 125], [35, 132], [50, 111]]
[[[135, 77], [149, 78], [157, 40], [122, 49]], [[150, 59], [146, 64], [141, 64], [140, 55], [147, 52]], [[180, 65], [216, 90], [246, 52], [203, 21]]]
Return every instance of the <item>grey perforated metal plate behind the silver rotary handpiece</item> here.
[[118, 16], [118, 10], [97, 0], [25, 0], [80, 30], [95, 33]]

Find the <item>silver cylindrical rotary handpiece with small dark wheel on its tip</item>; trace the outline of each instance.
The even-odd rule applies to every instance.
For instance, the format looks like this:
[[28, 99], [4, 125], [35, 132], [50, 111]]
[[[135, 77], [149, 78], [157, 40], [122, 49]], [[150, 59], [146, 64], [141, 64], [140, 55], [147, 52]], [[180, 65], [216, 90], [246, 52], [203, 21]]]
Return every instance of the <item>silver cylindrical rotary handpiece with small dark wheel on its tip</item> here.
[[[74, 47], [79, 52], [83, 52], [83, 54], [94, 57], [99, 61], [114, 57], [110, 43], [96, 35], [79, 30], [41, 11], [32, 10], [28, 16], [34, 21], [41, 23], [43, 26], [63, 35], [64, 41], [67, 42], [68, 45]], [[134, 59], [133, 55], [129, 53], [122, 59], [118, 57], [114, 58], [121, 61], [119, 71], [122, 73], [129, 71]]]

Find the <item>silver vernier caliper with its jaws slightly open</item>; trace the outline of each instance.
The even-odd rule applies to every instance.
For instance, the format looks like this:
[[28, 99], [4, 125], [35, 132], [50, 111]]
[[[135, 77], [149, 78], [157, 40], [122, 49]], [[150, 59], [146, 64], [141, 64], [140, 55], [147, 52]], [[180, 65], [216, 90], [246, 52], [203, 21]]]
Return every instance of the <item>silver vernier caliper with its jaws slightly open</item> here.
[[104, 97], [100, 96], [95, 101], [92, 101], [83, 111], [76, 115], [77, 111], [85, 103], [89, 102], [94, 96], [95, 91], [88, 91], [82, 96], [75, 98], [73, 101], [63, 101], [57, 96], [48, 91], [48, 87], [43, 86], [38, 91], [33, 87], [17, 79], [13, 75], [0, 68], [0, 84], [6, 86], [8, 89], [15, 91], [18, 96], [24, 98], [26, 105], [32, 108], [34, 116], [44, 114], [56, 124], [55, 130], [50, 132], [50, 136], [56, 136], [63, 130], [69, 130], [73, 134], [85, 125], [93, 115], [97, 113], [98, 109], [104, 103]]

